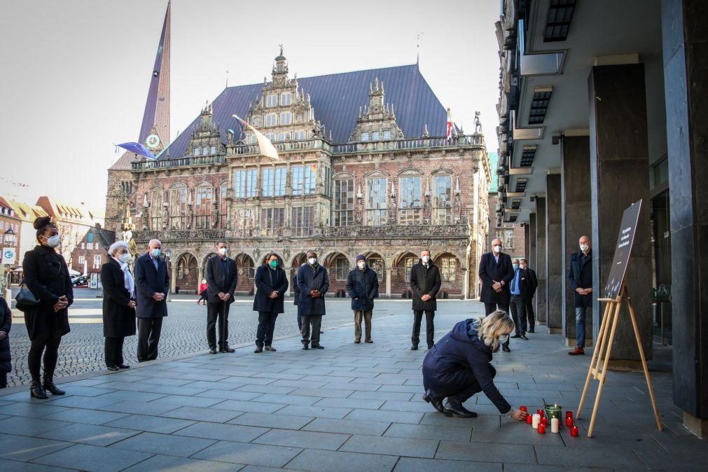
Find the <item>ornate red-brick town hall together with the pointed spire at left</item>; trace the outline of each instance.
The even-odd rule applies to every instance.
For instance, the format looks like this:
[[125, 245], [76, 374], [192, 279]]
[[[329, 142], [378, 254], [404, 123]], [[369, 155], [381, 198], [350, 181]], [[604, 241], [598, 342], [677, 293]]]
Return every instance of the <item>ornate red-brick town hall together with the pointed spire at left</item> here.
[[[331, 293], [364, 253], [381, 295], [406, 297], [410, 267], [430, 248], [441, 296], [476, 297], [489, 228], [484, 137], [479, 127], [445, 137], [447, 113], [418, 64], [298, 78], [281, 47], [263, 84], [225, 88], [170, 142], [169, 8], [139, 137], [159, 156], [126, 153], [109, 169], [108, 229], [132, 230], [140, 252], [159, 238], [183, 291], [223, 238], [239, 292], [253, 290], [268, 253], [292, 276], [314, 250]], [[233, 115], [280, 159], [261, 156]]]

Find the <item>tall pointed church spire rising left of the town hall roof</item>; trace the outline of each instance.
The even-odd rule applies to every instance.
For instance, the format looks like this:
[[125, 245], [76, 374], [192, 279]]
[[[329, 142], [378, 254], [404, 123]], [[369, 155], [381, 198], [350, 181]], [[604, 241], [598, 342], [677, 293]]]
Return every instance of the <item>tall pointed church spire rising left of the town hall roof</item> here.
[[[157, 47], [155, 64], [150, 76], [150, 88], [142, 115], [139, 142], [145, 144], [148, 136], [156, 134], [160, 144], [170, 142], [170, 13], [172, 4], [167, 2], [162, 33]], [[152, 137], [151, 142], [154, 142]]]

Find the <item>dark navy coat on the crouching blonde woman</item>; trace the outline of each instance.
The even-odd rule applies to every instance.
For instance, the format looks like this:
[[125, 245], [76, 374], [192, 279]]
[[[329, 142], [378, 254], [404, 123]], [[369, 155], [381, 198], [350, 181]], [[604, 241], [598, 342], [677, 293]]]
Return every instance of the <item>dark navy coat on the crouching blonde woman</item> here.
[[492, 352], [477, 335], [474, 320], [457, 323], [423, 359], [423, 383], [433, 391], [459, 391], [444, 379], [455, 378], [460, 369], [470, 369], [484, 394], [499, 410], [508, 413], [511, 406], [494, 385], [496, 369], [490, 364]]

